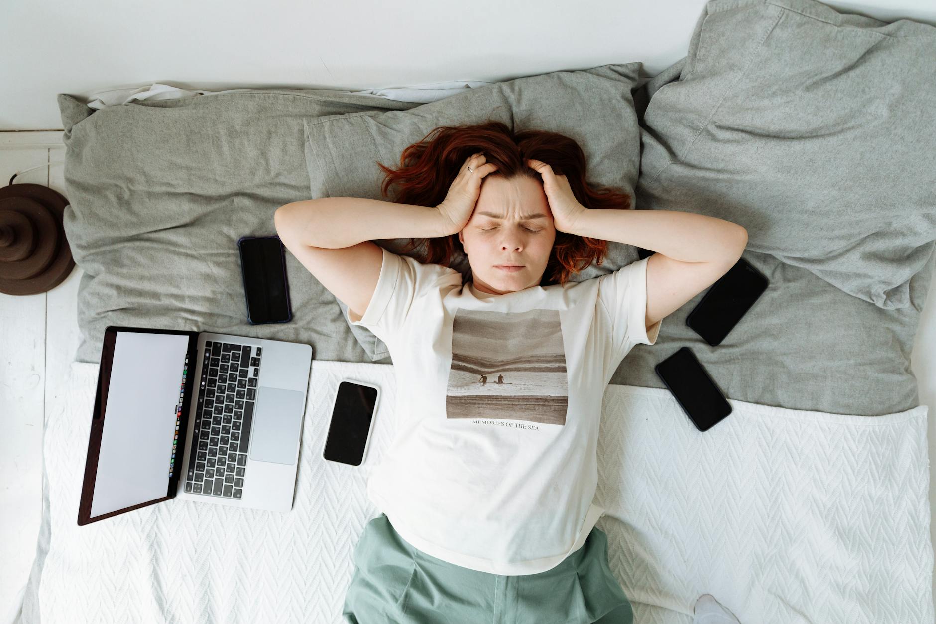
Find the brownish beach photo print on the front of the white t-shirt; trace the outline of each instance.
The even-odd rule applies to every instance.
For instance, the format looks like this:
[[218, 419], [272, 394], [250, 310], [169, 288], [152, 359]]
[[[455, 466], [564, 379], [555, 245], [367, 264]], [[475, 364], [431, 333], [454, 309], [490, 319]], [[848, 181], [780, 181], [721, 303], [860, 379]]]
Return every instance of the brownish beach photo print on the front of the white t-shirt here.
[[565, 424], [568, 403], [559, 310], [456, 312], [446, 418]]

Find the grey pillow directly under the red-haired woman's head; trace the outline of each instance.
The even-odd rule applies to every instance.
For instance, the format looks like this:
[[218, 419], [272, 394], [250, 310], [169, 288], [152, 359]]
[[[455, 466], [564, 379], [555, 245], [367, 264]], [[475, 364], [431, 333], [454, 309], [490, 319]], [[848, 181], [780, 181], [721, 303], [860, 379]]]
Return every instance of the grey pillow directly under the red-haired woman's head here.
[[[462, 126], [498, 120], [518, 129], [559, 132], [578, 141], [594, 186], [626, 191], [632, 203], [640, 169], [640, 130], [632, 91], [642, 85], [640, 63], [607, 65], [580, 71], [554, 71], [497, 82], [406, 111], [358, 111], [305, 120], [306, 165], [311, 197], [359, 197], [385, 200], [380, 194], [381, 162], [397, 166], [408, 145], [437, 126]], [[402, 253], [409, 239], [379, 244]], [[601, 267], [592, 264], [572, 279], [581, 281], [615, 271], [637, 259], [636, 247], [609, 243]], [[413, 251], [408, 255], [416, 256]], [[452, 268], [464, 271], [467, 259]], [[347, 306], [336, 300], [347, 321]], [[351, 325], [361, 347], [374, 359], [388, 355], [387, 345], [370, 330]]]

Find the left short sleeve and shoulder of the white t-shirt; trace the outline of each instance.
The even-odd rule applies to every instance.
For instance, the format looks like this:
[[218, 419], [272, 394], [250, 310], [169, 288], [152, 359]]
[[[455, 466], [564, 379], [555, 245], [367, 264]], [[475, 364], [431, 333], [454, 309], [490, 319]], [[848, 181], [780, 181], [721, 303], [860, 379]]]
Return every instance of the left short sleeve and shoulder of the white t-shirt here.
[[[426, 292], [438, 291], [444, 281], [440, 278], [457, 275], [461, 284], [461, 274], [440, 264], [423, 264], [409, 256], [381, 249], [384, 258], [371, 303], [360, 319], [354, 319], [350, 307], [346, 315], [348, 323], [366, 327], [390, 345], [413, 312], [414, 303]], [[454, 283], [454, 279], [447, 281]]]

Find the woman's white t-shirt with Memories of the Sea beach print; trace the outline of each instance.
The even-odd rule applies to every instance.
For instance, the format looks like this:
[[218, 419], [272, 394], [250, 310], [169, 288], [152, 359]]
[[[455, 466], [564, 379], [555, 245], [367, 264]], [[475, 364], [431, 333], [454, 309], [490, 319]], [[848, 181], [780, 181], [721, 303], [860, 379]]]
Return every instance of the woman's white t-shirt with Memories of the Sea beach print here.
[[[381, 247], [383, 249], [383, 247]], [[534, 574], [585, 542], [607, 382], [648, 333], [647, 260], [503, 295], [383, 249], [364, 316], [387, 343], [397, 433], [368, 497], [420, 551], [492, 574]]]

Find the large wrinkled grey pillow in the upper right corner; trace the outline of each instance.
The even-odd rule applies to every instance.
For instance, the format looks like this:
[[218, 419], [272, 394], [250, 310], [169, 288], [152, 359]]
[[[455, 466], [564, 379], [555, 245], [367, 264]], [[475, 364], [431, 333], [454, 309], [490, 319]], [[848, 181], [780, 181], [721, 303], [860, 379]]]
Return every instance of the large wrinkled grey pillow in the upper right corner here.
[[648, 83], [637, 204], [734, 221], [749, 250], [906, 307], [936, 239], [934, 60], [925, 23], [709, 2], [679, 80]]

